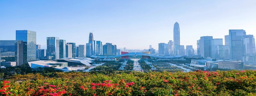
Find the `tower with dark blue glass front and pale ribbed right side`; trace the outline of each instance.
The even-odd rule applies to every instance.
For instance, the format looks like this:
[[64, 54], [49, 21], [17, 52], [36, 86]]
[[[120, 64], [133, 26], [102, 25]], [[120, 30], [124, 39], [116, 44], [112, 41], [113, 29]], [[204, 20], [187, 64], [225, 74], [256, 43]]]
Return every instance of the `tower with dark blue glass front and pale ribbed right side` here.
[[46, 58], [47, 60], [60, 59], [60, 39], [58, 37], [46, 37], [47, 50]]

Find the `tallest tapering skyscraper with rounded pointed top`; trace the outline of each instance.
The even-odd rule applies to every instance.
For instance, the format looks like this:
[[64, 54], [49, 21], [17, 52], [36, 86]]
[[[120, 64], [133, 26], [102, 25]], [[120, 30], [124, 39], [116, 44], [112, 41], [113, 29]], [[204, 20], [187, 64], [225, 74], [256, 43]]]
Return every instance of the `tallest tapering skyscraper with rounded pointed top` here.
[[175, 22], [173, 27], [173, 45], [174, 45], [174, 55], [180, 55], [180, 25]]

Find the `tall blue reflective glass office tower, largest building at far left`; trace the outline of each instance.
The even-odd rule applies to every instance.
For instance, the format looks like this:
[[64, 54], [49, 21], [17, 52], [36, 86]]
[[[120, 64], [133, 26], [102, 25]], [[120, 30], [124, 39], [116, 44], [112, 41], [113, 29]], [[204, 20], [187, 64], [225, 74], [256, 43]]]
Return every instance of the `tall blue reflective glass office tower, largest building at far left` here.
[[23, 41], [23, 64], [36, 60], [36, 32], [16, 30], [16, 40]]

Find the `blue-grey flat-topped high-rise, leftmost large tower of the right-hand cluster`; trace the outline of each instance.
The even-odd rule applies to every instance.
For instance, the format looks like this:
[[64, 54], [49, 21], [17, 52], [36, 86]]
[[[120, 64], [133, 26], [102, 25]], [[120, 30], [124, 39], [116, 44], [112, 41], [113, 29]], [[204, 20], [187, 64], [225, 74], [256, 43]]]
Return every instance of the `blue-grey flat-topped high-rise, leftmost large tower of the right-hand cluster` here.
[[202, 36], [199, 42], [201, 57], [212, 58], [212, 36]]

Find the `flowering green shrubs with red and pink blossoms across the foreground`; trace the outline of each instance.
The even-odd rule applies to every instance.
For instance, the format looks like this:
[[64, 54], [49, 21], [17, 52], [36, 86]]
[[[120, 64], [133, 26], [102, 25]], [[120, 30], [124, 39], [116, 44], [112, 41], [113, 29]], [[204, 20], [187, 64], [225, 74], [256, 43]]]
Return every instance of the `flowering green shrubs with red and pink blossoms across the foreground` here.
[[255, 96], [256, 71], [53, 73], [1, 81], [3, 96]]

